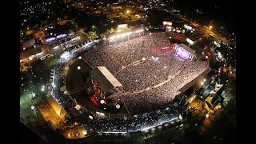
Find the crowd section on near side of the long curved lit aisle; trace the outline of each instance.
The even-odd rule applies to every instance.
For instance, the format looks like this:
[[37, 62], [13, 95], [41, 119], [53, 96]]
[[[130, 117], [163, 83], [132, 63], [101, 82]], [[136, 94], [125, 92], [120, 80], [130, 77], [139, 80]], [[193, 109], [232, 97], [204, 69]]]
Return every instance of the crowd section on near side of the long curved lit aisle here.
[[126, 102], [126, 106], [132, 114], [158, 109], [172, 102], [175, 96], [179, 94], [178, 90], [202, 74], [206, 68], [206, 66], [197, 66], [196, 68], [182, 66], [178, 70], [178, 74], [163, 86], [151, 88], [141, 94], [124, 95], [120, 98]]

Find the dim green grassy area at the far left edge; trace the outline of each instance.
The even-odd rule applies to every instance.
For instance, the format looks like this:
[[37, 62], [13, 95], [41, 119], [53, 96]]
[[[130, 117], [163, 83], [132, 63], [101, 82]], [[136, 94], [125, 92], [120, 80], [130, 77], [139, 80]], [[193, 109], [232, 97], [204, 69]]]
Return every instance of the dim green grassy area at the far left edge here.
[[[31, 110], [31, 106], [35, 106], [36, 102], [46, 95], [45, 91], [42, 91], [42, 86], [46, 86], [46, 78], [50, 77], [54, 59], [38, 60], [31, 66], [32, 68], [27, 72], [20, 73], [20, 109], [21, 117], [25, 120], [30, 119], [35, 114], [34, 110]], [[32, 100], [32, 93], [35, 94], [34, 100]]]

